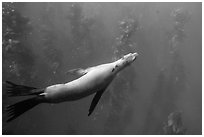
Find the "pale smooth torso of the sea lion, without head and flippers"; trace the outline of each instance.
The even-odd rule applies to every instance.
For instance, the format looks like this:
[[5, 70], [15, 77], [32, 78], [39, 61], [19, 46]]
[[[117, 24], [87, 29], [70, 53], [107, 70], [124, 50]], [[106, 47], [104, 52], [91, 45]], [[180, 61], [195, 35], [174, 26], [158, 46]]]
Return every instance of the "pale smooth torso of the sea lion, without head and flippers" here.
[[48, 102], [59, 103], [73, 101], [89, 96], [104, 86], [107, 86], [117, 74], [112, 72], [114, 63], [93, 67], [86, 75], [68, 82], [57, 84], [45, 89], [45, 98]]

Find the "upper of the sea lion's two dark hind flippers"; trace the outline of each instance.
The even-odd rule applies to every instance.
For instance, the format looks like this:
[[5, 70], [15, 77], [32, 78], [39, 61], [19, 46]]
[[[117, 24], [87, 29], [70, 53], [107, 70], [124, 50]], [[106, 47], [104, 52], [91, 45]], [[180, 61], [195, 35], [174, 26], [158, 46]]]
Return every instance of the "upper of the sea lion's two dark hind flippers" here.
[[38, 95], [44, 92], [44, 89], [38, 89], [35, 87], [28, 87], [24, 85], [17, 85], [10, 81], [6, 81], [6, 88], [8, 96]]

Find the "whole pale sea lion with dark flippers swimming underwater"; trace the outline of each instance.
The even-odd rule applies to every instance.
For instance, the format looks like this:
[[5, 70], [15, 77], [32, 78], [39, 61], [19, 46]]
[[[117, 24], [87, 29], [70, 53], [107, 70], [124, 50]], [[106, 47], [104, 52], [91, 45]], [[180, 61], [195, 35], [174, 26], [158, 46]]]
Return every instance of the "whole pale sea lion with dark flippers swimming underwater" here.
[[7, 121], [15, 119], [40, 103], [74, 101], [96, 93], [89, 108], [89, 116], [116, 74], [130, 65], [137, 56], [137, 53], [129, 53], [112, 63], [102, 64], [87, 69], [79, 68], [69, 70], [66, 72], [67, 74], [77, 74], [81, 77], [65, 84], [56, 84], [41, 89], [17, 85], [6, 81], [7, 91], [10, 96], [35, 95], [30, 99], [8, 106], [9, 118]]

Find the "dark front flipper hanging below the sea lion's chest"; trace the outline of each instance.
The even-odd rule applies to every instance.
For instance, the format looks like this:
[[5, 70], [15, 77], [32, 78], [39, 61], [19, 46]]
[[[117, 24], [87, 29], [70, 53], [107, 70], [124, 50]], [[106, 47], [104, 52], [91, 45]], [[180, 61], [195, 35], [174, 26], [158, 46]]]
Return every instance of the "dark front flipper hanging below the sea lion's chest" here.
[[100, 100], [100, 98], [101, 98], [101, 96], [102, 96], [102, 94], [103, 94], [103, 92], [104, 92], [105, 90], [106, 90], [106, 87], [103, 88], [102, 90], [99, 90], [98, 92], [96, 92], [96, 95], [94, 96], [94, 98], [93, 98], [93, 100], [92, 100], [92, 102], [91, 102], [91, 106], [90, 106], [90, 108], [89, 108], [89, 114], [88, 114], [88, 116], [90, 116], [91, 113], [94, 111], [96, 105], [98, 104], [98, 101]]

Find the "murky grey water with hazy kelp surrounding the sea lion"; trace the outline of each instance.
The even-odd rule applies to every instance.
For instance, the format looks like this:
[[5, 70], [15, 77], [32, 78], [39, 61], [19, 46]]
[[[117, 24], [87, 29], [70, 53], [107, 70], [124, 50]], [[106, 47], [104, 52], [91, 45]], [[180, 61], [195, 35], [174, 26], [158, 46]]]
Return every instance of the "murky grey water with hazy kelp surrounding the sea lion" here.
[[[46, 87], [139, 56], [93, 95], [6, 122], [4, 81]], [[2, 134], [202, 134], [202, 3], [2, 3]]]

